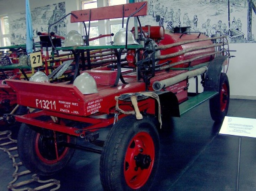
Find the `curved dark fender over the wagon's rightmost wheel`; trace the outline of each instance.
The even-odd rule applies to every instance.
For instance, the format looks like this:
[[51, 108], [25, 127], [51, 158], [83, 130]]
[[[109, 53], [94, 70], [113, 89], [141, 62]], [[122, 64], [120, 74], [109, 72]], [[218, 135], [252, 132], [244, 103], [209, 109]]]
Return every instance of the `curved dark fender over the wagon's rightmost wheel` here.
[[222, 65], [229, 56], [218, 56], [209, 64], [206, 72], [204, 91], [219, 91]]

